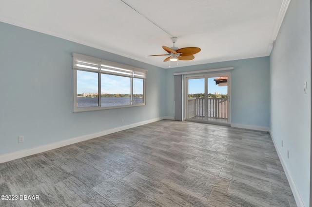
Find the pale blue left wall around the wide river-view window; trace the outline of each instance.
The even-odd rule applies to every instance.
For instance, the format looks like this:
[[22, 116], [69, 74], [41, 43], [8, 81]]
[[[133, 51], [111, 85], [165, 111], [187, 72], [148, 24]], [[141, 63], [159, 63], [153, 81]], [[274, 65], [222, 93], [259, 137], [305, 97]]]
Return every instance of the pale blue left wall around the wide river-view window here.
[[[72, 52], [147, 69], [146, 106], [73, 113]], [[155, 66], [0, 22], [0, 155], [163, 117], [164, 76]]]

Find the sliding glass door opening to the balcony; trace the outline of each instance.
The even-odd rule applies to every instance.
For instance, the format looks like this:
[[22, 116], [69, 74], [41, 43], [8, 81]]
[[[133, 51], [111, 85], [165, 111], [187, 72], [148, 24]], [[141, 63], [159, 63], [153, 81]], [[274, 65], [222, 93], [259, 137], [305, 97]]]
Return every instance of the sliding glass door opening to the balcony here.
[[185, 78], [187, 121], [230, 123], [229, 76], [219, 73]]

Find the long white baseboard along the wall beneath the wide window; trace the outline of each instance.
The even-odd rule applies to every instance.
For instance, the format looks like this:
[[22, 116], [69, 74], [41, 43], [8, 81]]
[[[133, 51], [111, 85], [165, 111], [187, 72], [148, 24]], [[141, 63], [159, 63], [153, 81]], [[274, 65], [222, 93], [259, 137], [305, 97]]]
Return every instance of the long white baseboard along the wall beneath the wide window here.
[[62, 141], [58, 141], [58, 142], [53, 142], [50, 144], [41, 145], [41, 146], [30, 148], [30, 149], [25, 149], [25, 150], [21, 150], [21, 151], [17, 151], [17, 152], [12, 152], [12, 153], [8, 153], [8, 154], [0, 155], [0, 163], [8, 162], [8, 161], [18, 159], [21, 157], [25, 157], [25, 156], [29, 156], [29, 155], [35, 155], [38, 153], [57, 149], [59, 147], [64, 147], [64, 146], [67, 146], [70, 144], [75, 144], [75, 143], [85, 141], [88, 139], [92, 139], [92, 138], [98, 138], [98, 137], [101, 137], [104, 135], [112, 134], [115, 132], [119, 132], [122, 130], [134, 128], [137, 126], [141, 126], [144, 124], [148, 124], [148, 123], [152, 123], [152, 122], [160, 121], [160, 120], [164, 120], [164, 119], [168, 119], [168, 118], [167, 117], [160, 117], [160, 118], [151, 119], [151, 120], [147, 120], [147, 121], [141, 121], [141, 122], [137, 122], [137, 123], [133, 123], [133, 124], [125, 125], [125, 126], [120, 126], [120, 127], [113, 128], [113, 129], [108, 129], [108, 130], [98, 132], [98, 133], [94, 133], [94, 134], [83, 135], [83, 136], [76, 137], [76, 138], [70, 138], [70, 139], [66, 139], [66, 140], [62, 140]]

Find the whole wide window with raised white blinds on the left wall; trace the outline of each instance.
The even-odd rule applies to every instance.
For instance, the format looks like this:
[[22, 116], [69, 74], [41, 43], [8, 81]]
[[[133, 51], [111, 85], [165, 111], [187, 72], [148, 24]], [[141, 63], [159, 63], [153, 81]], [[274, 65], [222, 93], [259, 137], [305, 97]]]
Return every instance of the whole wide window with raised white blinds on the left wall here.
[[74, 112], [145, 105], [145, 69], [74, 53]]

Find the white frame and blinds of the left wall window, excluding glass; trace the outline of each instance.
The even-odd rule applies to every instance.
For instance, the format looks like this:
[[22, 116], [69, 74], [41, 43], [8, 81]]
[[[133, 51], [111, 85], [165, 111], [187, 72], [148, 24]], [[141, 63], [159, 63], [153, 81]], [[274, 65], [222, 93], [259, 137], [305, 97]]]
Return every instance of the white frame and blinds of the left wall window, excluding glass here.
[[[85, 61], [83, 64], [80, 65], [79, 61]], [[88, 65], [91, 66], [88, 68]], [[97, 68], [97, 69], [96, 69]], [[98, 106], [91, 106], [91, 107], [77, 107], [77, 71], [87, 71], [87, 72], [95, 72], [98, 73], [98, 99], [99, 104]], [[84, 111], [97, 111], [97, 110], [107, 110], [107, 109], [114, 109], [114, 108], [127, 108], [127, 107], [135, 107], [135, 106], [143, 106], [145, 105], [145, 82], [146, 82], [146, 69], [140, 69], [116, 62], [111, 62], [87, 55], [82, 55], [78, 53], [73, 53], [73, 73], [74, 73], [74, 112], [84, 112]], [[118, 105], [118, 106], [108, 106], [102, 107], [101, 106], [101, 75], [100, 74], [109, 74], [109, 75], [116, 75], [122, 77], [129, 77], [131, 79], [131, 99], [130, 105]], [[143, 80], [143, 103], [134, 103], [133, 97], [133, 79], [138, 78]]]

